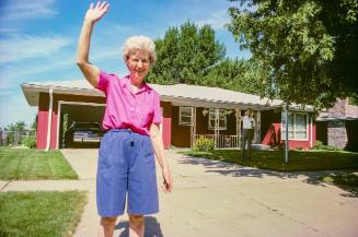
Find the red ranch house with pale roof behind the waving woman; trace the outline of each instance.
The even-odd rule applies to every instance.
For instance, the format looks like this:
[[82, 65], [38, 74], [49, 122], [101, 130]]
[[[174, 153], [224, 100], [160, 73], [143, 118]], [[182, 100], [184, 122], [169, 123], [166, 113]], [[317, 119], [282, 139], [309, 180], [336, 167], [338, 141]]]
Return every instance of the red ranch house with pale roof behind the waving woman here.
[[[72, 121], [102, 122], [104, 94], [85, 80], [23, 83], [21, 86], [28, 105], [38, 107], [37, 149], [62, 147], [63, 118], [67, 125]], [[284, 144], [281, 100], [261, 99], [256, 95], [218, 87], [150, 86], [161, 95], [161, 131], [166, 149], [190, 147], [198, 138], [212, 139], [218, 149], [240, 147], [241, 115], [247, 108], [254, 110], [257, 125], [254, 144]], [[312, 147], [315, 141], [312, 107], [290, 106], [289, 110], [290, 149]]]

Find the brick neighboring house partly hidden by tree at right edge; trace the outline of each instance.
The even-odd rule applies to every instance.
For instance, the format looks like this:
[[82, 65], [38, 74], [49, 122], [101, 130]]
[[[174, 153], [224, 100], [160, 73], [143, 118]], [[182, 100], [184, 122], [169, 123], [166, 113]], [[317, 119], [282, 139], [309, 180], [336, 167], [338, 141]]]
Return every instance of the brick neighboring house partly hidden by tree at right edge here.
[[358, 106], [338, 99], [316, 118], [317, 140], [325, 145], [358, 152]]

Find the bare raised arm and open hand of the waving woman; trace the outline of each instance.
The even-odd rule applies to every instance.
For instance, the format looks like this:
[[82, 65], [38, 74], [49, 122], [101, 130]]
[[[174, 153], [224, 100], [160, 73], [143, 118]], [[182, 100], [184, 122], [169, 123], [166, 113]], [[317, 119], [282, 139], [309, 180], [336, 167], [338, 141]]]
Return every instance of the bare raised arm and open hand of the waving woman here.
[[86, 11], [82, 29], [79, 37], [77, 64], [81, 69], [84, 78], [94, 87], [99, 85], [100, 69], [89, 61], [91, 34], [94, 24], [108, 11], [109, 4], [107, 2], [97, 2], [94, 7], [91, 3], [90, 9]]

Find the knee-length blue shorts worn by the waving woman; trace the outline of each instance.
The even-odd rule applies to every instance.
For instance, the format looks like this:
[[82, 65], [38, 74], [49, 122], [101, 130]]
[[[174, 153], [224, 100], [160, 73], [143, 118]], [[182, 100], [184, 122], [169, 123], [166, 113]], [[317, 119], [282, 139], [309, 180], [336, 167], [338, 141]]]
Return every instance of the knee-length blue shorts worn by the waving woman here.
[[129, 214], [146, 215], [159, 212], [151, 139], [127, 129], [112, 129], [102, 138], [99, 150], [99, 214], [103, 217], [122, 215], [127, 193]]

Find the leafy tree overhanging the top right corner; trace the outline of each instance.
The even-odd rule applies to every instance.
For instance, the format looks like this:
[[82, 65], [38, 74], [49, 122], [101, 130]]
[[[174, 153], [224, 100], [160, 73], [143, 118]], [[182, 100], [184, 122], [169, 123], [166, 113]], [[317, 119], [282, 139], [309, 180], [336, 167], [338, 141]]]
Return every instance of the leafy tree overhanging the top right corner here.
[[357, 0], [230, 1], [228, 28], [262, 63], [262, 95], [317, 107], [357, 97]]

